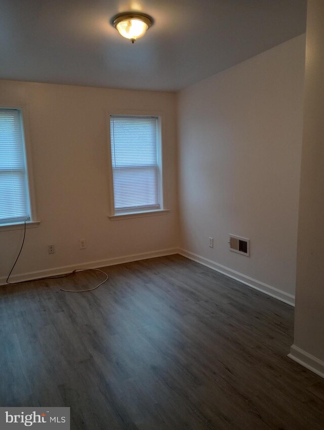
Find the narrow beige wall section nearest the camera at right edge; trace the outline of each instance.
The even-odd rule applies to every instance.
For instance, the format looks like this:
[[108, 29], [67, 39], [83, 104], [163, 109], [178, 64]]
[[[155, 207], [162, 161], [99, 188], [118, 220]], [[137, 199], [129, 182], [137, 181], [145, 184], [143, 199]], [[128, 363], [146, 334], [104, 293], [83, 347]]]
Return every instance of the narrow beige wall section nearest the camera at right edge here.
[[[297, 289], [292, 354], [324, 376], [324, 2], [308, 0]], [[306, 353], [306, 355], [304, 353]], [[307, 354], [314, 356], [307, 357]], [[313, 361], [313, 362], [312, 362]]]

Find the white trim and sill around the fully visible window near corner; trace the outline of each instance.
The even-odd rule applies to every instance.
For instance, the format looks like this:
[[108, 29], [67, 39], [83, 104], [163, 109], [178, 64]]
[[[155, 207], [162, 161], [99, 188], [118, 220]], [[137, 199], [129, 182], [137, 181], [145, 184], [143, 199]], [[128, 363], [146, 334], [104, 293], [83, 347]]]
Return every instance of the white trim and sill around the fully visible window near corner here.
[[[166, 195], [165, 195], [165, 183], [164, 183], [164, 156], [163, 156], [163, 142], [165, 139], [165, 112], [156, 110], [113, 110], [106, 111], [106, 123], [107, 123], [107, 135], [108, 135], [108, 183], [109, 183], [109, 209], [108, 218], [113, 220], [126, 220], [130, 218], [142, 218], [148, 216], [156, 216], [168, 213], [169, 210], [166, 209]], [[112, 159], [111, 159], [111, 134], [110, 134], [110, 116], [111, 115], [125, 115], [125, 116], [156, 116], [158, 118], [158, 136], [157, 136], [157, 163], [159, 168], [159, 202], [160, 207], [150, 208], [150, 209], [132, 209], [129, 211], [115, 211], [114, 205], [114, 193], [113, 193], [113, 173], [112, 173]]]

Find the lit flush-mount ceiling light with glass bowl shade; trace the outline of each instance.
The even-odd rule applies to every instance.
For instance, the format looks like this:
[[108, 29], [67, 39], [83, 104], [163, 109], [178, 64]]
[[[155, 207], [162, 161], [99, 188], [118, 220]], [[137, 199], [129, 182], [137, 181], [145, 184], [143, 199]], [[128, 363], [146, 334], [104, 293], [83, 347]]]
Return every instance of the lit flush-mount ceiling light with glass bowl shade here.
[[139, 12], [130, 12], [114, 16], [111, 23], [121, 36], [130, 39], [133, 44], [136, 39], [144, 36], [146, 30], [153, 24], [153, 19]]

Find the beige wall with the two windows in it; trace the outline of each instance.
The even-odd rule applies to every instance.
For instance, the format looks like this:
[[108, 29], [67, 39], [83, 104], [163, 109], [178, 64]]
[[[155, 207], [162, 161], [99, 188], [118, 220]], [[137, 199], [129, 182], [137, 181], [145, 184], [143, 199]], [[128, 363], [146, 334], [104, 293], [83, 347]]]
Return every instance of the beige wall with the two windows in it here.
[[[26, 105], [38, 228], [28, 229], [14, 273], [173, 248], [178, 245], [175, 95], [0, 81], [0, 103]], [[122, 109], [164, 111], [165, 195], [170, 213], [110, 221], [107, 115]], [[0, 231], [0, 282], [21, 231]], [[79, 239], [87, 249], [79, 250]], [[49, 255], [47, 245], [55, 245]], [[6, 279], [6, 278], [5, 278]]]

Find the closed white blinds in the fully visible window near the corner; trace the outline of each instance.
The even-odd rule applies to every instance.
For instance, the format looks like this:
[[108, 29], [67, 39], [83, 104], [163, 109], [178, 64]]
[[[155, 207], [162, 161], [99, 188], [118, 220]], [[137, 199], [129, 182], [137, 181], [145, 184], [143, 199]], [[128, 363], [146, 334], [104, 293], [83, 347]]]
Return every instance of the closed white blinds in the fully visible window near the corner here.
[[110, 116], [115, 211], [160, 207], [157, 120]]

